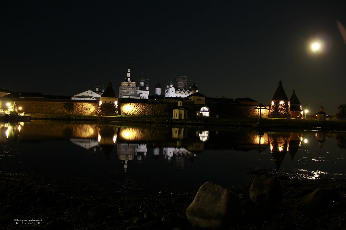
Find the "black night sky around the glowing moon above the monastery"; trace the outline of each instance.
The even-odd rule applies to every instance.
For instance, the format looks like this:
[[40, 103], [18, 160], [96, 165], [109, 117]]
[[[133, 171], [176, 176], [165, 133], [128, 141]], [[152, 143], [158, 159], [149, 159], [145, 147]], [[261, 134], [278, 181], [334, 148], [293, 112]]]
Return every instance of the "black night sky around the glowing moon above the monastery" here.
[[[344, 1], [7, 1], [0, 86], [73, 96], [126, 77], [150, 94], [181, 73], [207, 97], [269, 104], [281, 80], [309, 114], [346, 104]], [[324, 50], [309, 51], [324, 41]]]

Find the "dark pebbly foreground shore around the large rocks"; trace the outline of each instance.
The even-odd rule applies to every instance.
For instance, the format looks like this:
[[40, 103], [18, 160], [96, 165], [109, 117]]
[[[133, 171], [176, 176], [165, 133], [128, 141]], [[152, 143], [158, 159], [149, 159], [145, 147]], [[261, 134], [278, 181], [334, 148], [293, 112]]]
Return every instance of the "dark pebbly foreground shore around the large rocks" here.
[[[279, 179], [283, 199], [275, 207], [257, 207], [249, 198], [250, 182], [230, 188], [247, 214], [227, 229], [346, 229], [346, 178], [298, 180], [293, 175]], [[0, 182], [0, 229], [202, 229], [192, 227], [185, 215], [196, 189], [148, 194], [134, 181], [127, 181], [119, 182], [118, 191], [111, 191], [89, 178], [52, 179], [34, 174], [0, 174]], [[297, 210], [302, 197], [327, 187], [336, 189], [340, 199], [323, 209]]]

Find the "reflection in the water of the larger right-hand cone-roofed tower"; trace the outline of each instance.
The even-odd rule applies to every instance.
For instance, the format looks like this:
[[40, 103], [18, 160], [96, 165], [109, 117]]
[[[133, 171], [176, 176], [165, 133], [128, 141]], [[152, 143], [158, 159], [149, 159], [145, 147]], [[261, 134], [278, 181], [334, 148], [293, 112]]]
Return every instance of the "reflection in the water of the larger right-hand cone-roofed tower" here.
[[280, 169], [280, 165], [289, 150], [289, 133], [268, 133], [270, 150], [275, 160], [276, 169]]

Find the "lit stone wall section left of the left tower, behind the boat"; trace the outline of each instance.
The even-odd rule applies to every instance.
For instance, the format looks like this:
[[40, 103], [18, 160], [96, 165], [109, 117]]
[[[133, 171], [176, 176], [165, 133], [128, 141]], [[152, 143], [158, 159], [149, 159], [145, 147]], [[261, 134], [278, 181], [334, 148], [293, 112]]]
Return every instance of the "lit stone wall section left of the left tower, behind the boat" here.
[[22, 107], [21, 111], [25, 113], [95, 115], [99, 106], [98, 101], [0, 98], [0, 108], [6, 109], [7, 102], [10, 104], [16, 102], [17, 108]]

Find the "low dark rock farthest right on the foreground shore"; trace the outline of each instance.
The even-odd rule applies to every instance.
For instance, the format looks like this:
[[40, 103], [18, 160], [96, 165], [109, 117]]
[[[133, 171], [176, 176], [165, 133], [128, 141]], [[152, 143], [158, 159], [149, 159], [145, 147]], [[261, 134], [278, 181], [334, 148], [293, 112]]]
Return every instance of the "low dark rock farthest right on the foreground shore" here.
[[320, 188], [303, 197], [297, 204], [301, 210], [320, 209], [329, 206], [340, 197], [333, 188]]

